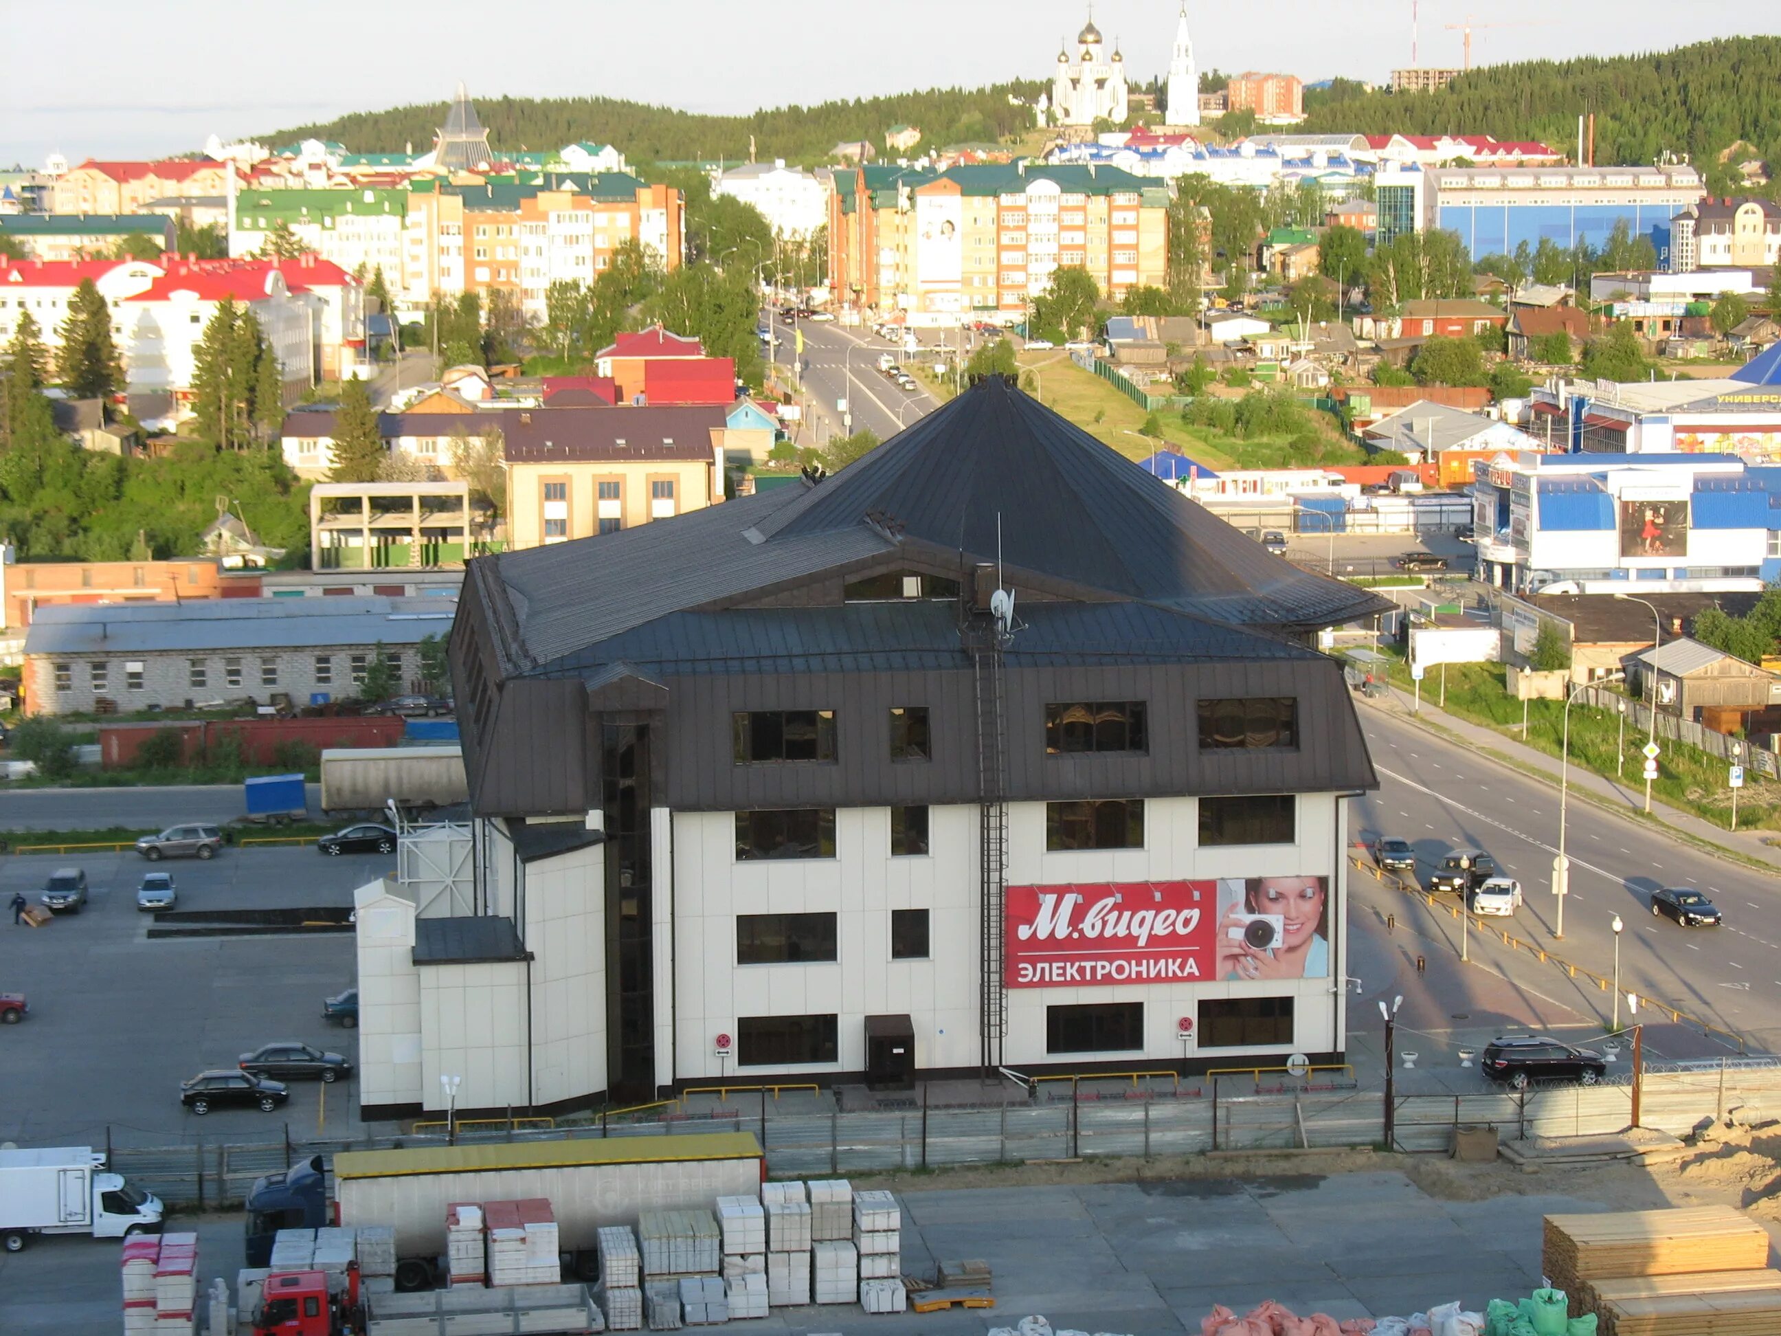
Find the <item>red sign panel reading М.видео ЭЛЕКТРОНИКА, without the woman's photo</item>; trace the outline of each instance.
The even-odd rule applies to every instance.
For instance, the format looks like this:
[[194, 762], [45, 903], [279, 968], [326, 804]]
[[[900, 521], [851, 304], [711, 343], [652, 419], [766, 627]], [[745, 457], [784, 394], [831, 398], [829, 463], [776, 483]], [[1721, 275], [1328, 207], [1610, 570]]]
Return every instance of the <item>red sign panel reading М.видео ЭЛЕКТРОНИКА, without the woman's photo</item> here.
[[1216, 978], [1216, 882], [1010, 885], [1010, 989]]

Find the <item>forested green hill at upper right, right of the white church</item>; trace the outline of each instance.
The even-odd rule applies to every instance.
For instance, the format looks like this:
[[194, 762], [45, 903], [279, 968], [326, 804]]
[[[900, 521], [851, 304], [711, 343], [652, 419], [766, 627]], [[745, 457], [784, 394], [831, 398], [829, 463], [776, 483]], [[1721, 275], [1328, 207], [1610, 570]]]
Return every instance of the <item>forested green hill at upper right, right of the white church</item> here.
[[1728, 37], [1653, 55], [1530, 61], [1460, 75], [1439, 93], [1362, 93], [1338, 82], [1305, 98], [1307, 134], [1489, 134], [1576, 151], [1596, 112], [1596, 162], [1658, 153], [1710, 159], [1744, 141], [1781, 171], [1781, 37]]

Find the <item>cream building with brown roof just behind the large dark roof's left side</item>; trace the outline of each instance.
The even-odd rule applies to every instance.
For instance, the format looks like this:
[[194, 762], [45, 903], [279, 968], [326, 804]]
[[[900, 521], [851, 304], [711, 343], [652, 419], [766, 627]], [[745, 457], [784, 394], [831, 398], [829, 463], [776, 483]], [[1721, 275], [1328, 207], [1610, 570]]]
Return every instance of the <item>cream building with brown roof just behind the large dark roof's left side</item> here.
[[721, 408], [508, 413], [508, 543], [547, 547], [723, 502]]

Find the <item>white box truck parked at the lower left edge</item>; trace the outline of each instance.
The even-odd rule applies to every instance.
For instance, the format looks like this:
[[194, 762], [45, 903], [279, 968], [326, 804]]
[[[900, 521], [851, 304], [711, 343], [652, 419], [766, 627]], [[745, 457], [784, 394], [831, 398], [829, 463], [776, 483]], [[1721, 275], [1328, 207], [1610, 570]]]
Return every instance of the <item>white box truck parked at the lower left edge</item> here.
[[160, 1233], [160, 1199], [105, 1170], [87, 1145], [0, 1151], [0, 1243], [7, 1252], [30, 1234], [126, 1238]]

